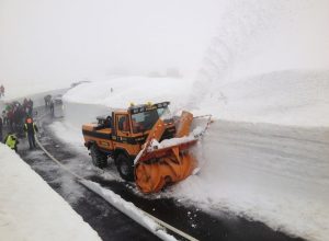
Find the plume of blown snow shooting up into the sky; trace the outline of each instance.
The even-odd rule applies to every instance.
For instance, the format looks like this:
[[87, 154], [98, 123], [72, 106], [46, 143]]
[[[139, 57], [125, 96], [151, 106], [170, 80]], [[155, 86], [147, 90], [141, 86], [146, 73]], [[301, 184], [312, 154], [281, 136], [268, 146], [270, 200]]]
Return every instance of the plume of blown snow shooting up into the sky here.
[[225, 79], [248, 49], [248, 43], [273, 27], [280, 7], [280, 1], [231, 1], [219, 22], [218, 35], [206, 51], [201, 81]]

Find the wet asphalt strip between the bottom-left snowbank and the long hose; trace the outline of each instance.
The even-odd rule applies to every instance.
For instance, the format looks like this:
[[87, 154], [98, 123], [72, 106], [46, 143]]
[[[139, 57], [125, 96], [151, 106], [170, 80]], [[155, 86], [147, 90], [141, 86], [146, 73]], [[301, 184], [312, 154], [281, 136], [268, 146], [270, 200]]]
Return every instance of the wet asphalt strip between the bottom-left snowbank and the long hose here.
[[[49, 145], [46, 145], [46, 148], [52, 150]], [[61, 152], [60, 156], [66, 154]], [[43, 152], [35, 150], [31, 154], [22, 151], [21, 157], [70, 204], [102, 240], [159, 240], [103, 198], [76, 182], [73, 176], [61, 170]]]

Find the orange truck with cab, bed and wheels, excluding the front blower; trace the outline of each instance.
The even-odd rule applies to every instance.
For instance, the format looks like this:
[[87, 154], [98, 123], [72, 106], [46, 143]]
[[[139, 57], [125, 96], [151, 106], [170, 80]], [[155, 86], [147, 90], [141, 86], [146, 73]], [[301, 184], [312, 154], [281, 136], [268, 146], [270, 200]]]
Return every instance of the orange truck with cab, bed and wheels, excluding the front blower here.
[[[95, 167], [105, 168], [112, 158], [121, 176], [134, 179], [134, 159], [143, 149], [149, 131], [161, 117], [169, 116], [169, 102], [131, 105], [127, 110], [116, 110], [107, 116], [98, 117], [98, 123], [84, 124], [82, 134], [84, 146], [90, 150]], [[166, 130], [162, 139], [175, 135], [171, 117], [164, 118]]]

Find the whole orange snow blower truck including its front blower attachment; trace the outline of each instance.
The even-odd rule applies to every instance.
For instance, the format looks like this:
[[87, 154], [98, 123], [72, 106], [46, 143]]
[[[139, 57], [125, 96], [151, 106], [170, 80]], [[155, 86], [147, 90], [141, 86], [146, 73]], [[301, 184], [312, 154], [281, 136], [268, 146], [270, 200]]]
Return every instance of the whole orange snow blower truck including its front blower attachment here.
[[102, 169], [112, 158], [120, 175], [135, 181], [144, 193], [159, 192], [191, 175], [196, 160], [189, 149], [206, 128], [190, 134], [193, 115], [183, 112], [177, 120], [166, 118], [168, 105], [131, 105], [98, 117], [97, 124], [83, 125], [84, 146], [92, 163]]

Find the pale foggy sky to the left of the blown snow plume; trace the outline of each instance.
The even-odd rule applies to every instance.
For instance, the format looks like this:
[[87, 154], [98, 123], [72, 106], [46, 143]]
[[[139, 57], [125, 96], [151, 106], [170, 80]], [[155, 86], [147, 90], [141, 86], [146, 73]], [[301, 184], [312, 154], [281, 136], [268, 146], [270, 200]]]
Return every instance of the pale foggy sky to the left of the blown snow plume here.
[[200, 68], [223, 1], [0, 0], [0, 82]]

